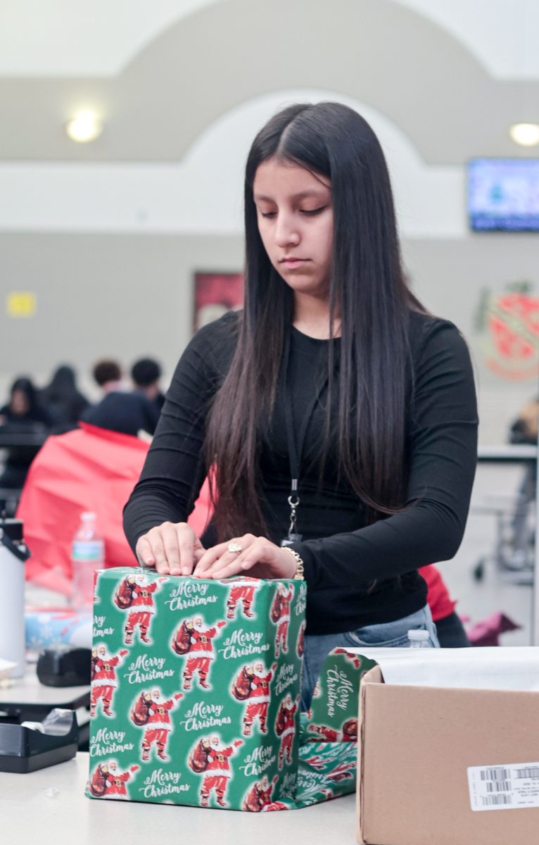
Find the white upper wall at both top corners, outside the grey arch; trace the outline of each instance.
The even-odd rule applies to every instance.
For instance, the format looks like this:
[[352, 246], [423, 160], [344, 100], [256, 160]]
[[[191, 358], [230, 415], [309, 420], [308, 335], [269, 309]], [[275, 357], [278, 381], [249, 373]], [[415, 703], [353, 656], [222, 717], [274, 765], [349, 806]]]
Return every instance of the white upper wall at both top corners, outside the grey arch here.
[[[145, 44], [226, 0], [2, 0], [0, 76], [114, 76]], [[392, 0], [461, 41], [497, 79], [539, 79], [536, 0]]]

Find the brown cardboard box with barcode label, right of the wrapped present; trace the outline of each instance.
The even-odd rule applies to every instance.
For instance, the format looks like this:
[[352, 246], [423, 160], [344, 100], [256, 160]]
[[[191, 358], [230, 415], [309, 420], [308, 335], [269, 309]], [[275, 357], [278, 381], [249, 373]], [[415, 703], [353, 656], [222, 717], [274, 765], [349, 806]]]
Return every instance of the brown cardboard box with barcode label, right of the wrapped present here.
[[394, 685], [380, 666], [368, 671], [357, 842], [539, 842], [539, 692]]

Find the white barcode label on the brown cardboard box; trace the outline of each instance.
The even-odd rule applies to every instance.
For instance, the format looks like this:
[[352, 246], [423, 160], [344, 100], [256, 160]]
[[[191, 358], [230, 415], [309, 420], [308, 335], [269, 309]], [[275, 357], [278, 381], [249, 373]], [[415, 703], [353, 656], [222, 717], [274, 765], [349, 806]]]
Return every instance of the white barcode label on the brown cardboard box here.
[[539, 807], [539, 763], [468, 766], [472, 810]]

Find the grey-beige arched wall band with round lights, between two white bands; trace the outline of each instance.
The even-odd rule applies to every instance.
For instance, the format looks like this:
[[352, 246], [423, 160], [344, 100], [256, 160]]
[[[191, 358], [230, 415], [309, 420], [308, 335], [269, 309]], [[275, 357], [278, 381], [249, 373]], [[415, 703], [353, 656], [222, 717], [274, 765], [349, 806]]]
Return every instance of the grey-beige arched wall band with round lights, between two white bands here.
[[[330, 14], [329, 14], [330, 9]], [[226, 0], [156, 35], [110, 78], [0, 79], [4, 161], [180, 161], [216, 118], [286, 88], [339, 90], [378, 109], [422, 159], [461, 164], [518, 150], [539, 81], [494, 79], [454, 35], [389, 0]], [[106, 129], [73, 144], [63, 124], [94, 107]]]

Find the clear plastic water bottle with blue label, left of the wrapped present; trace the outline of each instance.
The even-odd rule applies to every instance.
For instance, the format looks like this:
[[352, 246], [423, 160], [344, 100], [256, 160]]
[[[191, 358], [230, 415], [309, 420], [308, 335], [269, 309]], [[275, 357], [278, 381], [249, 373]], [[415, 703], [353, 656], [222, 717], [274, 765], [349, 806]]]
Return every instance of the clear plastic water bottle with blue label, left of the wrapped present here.
[[74, 608], [89, 610], [94, 602], [94, 572], [105, 567], [105, 542], [95, 526], [95, 514], [80, 515], [80, 525], [71, 545]]

